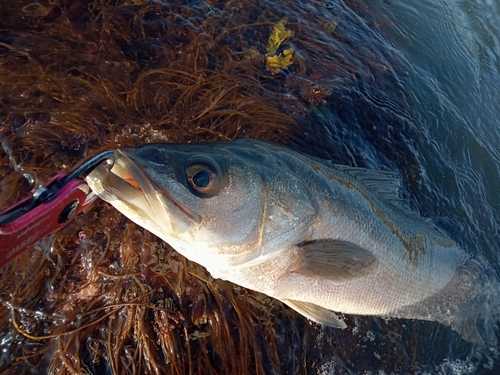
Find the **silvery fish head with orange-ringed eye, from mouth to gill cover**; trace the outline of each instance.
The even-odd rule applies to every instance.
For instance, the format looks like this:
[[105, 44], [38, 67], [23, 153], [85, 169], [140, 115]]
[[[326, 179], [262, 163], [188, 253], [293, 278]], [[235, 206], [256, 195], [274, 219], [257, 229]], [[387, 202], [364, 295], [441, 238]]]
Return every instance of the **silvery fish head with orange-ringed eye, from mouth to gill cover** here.
[[[87, 181], [131, 220], [209, 270], [248, 264], [304, 237], [307, 184], [251, 144], [117, 150]], [[306, 207], [306, 209], [304, 209]]]

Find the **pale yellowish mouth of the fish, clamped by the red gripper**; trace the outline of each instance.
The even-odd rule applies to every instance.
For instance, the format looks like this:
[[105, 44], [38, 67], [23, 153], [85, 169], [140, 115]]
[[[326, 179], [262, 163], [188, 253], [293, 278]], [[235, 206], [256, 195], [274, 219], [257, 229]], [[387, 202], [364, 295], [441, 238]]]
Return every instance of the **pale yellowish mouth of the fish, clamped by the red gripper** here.
[[96, 167], [86, 181], [99, 198], [159, 237], [174, 231], [174, 217], [184, 224], [201, 222], [200, 215], [155, 183], [122, 150], [115, 150], [114, 157]]

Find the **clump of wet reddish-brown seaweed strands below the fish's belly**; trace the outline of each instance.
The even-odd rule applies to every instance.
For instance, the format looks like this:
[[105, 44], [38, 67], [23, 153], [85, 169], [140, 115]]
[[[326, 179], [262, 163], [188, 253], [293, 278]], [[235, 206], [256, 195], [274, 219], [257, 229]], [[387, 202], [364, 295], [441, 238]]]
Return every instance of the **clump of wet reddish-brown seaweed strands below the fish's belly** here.
[[[101, 373], [107, 366], [117, 374], [203, 373], [229, 355], [243, 361], [224, 363], [224, 373], [246, 371], [250, 358], [262, 373], [254, 326], [273, 337], [272, 319], [253, 306], [262, 297], [250, 293], [241, 301], [246, 291], [219, 288], [201, 267], [188, 266], [108, 206], [51, 242], [50, 251], [25, 253], [3, 273], [3, 290], [19, 296], [1, 307], [2, 326], [10, 320], [18, 331], [9, 345], [18, 363], [12, 373], [44, 361], [51, 373]], [[15, 287], [5, 285], [8, 279]]]

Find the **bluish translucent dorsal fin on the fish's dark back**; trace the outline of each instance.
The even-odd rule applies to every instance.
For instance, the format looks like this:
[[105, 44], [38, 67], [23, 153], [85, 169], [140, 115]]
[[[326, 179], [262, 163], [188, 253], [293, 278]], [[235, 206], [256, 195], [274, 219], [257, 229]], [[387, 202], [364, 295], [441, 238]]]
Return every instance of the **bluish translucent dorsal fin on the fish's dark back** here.
[[402, 199], [399, 197], [399, 188], [402, 184], [401, 179], [396, 173], [338, 164], [335, 164], [335, 167], [354, 177], [356, 180], [361, 181], [392, 204], [396, 206], [401, 204]]

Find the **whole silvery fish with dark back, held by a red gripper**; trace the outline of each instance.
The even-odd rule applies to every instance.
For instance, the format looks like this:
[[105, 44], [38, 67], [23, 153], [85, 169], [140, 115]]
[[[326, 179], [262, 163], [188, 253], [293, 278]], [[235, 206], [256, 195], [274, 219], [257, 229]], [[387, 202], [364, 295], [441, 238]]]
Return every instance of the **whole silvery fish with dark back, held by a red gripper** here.
[[483, 267], [402, 206], [393, 172], [240, 139], [115, 150], [87, 183], [214, 278], [316, 323], [421, 319], [477, 340], [489, 304]]

